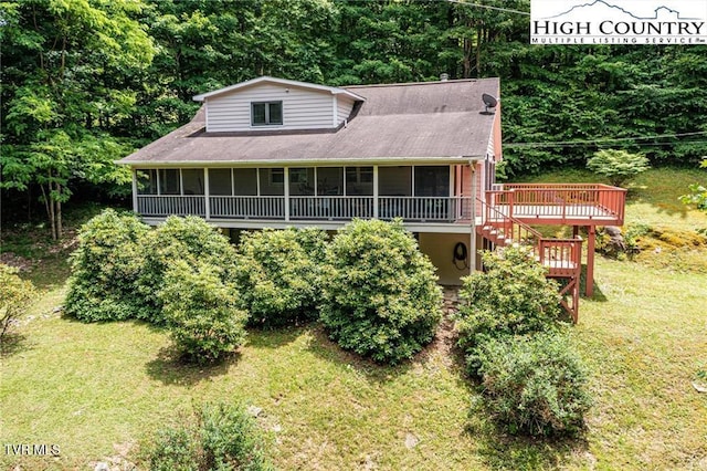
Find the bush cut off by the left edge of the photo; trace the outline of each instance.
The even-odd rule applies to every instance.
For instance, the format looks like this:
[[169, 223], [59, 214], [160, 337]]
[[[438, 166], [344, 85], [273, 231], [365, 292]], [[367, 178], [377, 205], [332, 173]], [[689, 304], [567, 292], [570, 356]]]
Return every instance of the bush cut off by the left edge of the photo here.
[[18, 269], [0, 263], [0, 346], [36, 295], [34, 285], [18, 276]]

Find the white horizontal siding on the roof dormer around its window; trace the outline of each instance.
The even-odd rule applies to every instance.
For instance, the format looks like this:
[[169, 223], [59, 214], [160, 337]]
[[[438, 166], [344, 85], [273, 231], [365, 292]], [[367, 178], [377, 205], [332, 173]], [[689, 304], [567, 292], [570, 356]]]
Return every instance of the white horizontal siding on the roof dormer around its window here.
[[[317, 129], [333, 127], [334, 96], [263, 84], [207, 100], [207, 130]], [[283, 102], [283, 125], [251, 126], [252, 102]]]

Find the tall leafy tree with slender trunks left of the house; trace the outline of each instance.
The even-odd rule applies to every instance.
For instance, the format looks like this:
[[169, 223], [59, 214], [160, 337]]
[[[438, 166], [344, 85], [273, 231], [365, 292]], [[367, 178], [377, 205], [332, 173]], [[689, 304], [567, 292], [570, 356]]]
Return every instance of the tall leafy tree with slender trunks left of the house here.
[[39, 186], [54, 239], [73, 181], [129, 181], [114, 160], [131, 146], [110, 132], [135, 103], [131, 75], [152, 59], [152, 41], [135, 19], [143, 8], [127, 0], [2, 3], [0, 188]]

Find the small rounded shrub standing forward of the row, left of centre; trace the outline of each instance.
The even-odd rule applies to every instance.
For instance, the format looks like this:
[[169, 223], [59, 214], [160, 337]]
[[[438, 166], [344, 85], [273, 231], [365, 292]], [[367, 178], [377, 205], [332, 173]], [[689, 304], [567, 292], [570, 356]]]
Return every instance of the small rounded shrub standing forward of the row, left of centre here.
[[245, 339], [247, 313], [238, 308], [235, 290], [223, 270], [207, 262], [170, 263], [160, 291], [169, 333], [184, 357], [205, 364], [219, 360]]

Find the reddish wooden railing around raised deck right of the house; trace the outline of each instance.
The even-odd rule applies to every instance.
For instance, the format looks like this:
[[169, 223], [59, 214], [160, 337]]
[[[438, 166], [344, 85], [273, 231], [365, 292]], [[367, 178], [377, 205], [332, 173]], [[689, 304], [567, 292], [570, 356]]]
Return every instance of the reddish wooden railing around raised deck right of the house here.
[[486, 203], [521, 219], [601, 219], [623, 224], [626, 190], [598, 184], [504, 184]]

